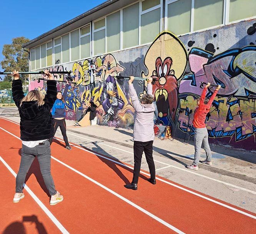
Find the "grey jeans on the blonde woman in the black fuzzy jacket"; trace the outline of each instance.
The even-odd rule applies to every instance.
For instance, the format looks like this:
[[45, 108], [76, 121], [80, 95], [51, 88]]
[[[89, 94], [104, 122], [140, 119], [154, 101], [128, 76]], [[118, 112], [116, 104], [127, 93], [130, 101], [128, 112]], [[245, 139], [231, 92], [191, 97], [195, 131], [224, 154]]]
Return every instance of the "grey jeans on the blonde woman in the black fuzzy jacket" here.
[[45, 185], [50, 195], [55, 195], [57, 191], [51, 175], [51, 148], [48, 140], [43, 142], [43, 145], [33, 148], [22, 145], [20, 169], [16, 177], [16, 193], [22, 193], [26, 175], [36, 156]]

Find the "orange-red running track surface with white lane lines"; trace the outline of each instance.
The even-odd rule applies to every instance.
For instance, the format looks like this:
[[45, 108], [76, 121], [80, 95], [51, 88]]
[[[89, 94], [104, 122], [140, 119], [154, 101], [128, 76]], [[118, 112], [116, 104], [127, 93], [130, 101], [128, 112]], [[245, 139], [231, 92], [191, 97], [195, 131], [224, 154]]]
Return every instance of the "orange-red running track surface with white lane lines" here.
[[[19, 125], [0, 118], [0, 127], [0, 157], [18, 173], [22, 146], [21, 140], [17, 138], [20, 137]], [[54, 158], [51, 161], [52, 176], [56, 189], [64, 195], [63, 202], [50, 206], [37, 160], [28, 172], [26, 185], [64, 229], [56, 226], [26, 190], [24, 199], [19, 203], [12, 202], [15, 177], [0, 161], [0, 233], [226, 234], [252, 233], [255, 230], [254, 213], [164, 178], [157, 180], [156, 185], [151, 185], [144, 174], [139, 178], [138, 190], [127, 190], [123, 185], [131, 181], [131, 168], [96, 153], [86, 152], [80, 146], [72, 147], [71, 151], [63, 146], [63, 142], [58, 140], [51, 146]], [[211, 198], [224, 206], [205, 198]]]

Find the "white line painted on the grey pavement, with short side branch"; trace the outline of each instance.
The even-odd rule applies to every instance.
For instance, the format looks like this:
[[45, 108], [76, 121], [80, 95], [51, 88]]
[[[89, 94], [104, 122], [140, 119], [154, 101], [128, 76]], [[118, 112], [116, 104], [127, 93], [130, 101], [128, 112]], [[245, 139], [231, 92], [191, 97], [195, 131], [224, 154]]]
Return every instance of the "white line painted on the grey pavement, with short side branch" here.
[[[75, 136], [75, 137], [80, 137], [80, 136], [78, 136], [78, 135], [74, 135], [74, 134], [69, 133], [69, 132], [67, 132], [67, 133], [70, 134], [70, 135], [73, 135], [73, 136]], [[80, 138], [83, 138], [83, 139], [85, 139], [85, 140], [93, 141], [93, 140], [88, 139], [88, 138], [85, 138], [85, 137], [80, 137]], [[111, 146], [111, 145], [107, 145], [107, 144], [105, 144], [105, 143], [98, 142], [98, 144], [105, 145], [105, 146], [107, 146], [107, 147], [111, 147], [111, 148], [114, 148], [114, 149], [116, 149], [116, 150], [120, 150], [120, 151], [123, 151], [123, 152], [126, 152], [126, 153], [133, 154], [133, 152], [130, 152], [130, 151], [127, 151], [127, 150], [123, 150], [123, 149], [121, 149], [121, 148], [117, 148], [117, 147], [114, 147], [114, 146]], [[145, 158], [145, 156], [143, 156], [143, 158]], [[174, 166], [174, 165], [171, 165], [171, 164], [168, 164], [168, 163], [163, 163], [163, 162], [158, 161], [158, 160], [155, 160], [155, 159], [154, 159], [154, 161], [157, 162], [157, 163], [162, 163], [162, 164], [166, 165], [166, 167], [163, 167], [162, 169], [168, 168], [168, 167], [173, 167], [173, 168], [176, 168], [176, 169], [179, 169], [179, 170], [182, 170], [182, 171], [186, 171], [187, 173], [191, 173], [191, 174], [193, 174], [193, 175], [201, 176], [201, 177], [206, 178], [206, 179], [208, 179], [208, 180], [213, 180], [213, 181], [216, 181], [216, 182], [218, 182], [218, 183], [222, 183], [222, 184], [224, 184], [224, 185], [231, 186], [231, 187], [233, 187], [233, 188], [238, 188], [239, 190], [244, 190], [244, 191], [246, 191], [246, 192], [256, 194], [256, 191], [248, 190], [248, 189], [246, 189], [246, 188], [242, 188], [242, 187], [239, 187], [239, 186], [236, 186], [236, 185], [233, 185], [233, 184], [230, 184], [230, 183], [221, 181], [221, 180], [217, 180], [217, 179], [211, 178], [211, 177], [209, 177], [209, 176], [201, 175], [201, 174], [196, 173], [196, 172], [194, 172], [194, 171], [191, 171], [191, 170], [189, 170], [189, 169], [184, 169], [184, 168], [180, 168], [180, 167], [178, 167], [178, 166]], [[160, 168], [157, 169], [157, 170], [160, 170]], [[156, 170], [156, 171], [157, 171], [157, 170]]]

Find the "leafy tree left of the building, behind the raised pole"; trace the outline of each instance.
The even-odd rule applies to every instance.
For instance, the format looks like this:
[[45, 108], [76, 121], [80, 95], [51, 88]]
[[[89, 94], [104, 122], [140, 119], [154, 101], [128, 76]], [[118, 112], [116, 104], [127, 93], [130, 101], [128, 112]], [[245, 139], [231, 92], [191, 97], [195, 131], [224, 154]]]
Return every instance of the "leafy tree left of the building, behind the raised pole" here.
[[[28, 71], [29, 53], [22, 49], [22, 45], [30, 41], [24, 36], [12, 39], [12, 44], [4, 44], [2, 54], [5, 56], [1, 61], [1, 66], [5, 71]], [[4, 80], [12, 81], [12, 76], [5, 76]], [[28, 75], [21, 75], [22, 81], [28, 79]]]

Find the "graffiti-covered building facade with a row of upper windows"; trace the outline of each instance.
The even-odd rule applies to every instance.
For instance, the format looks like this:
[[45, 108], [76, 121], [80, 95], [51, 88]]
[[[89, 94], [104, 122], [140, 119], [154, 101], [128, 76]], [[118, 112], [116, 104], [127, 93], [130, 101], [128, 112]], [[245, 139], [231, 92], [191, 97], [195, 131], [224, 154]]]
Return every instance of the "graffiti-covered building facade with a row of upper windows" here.
[[[69, 84], [67, 119], [80, 119], [93, 101], [97, 124], [132, 128], [128, 82], [115, 76], [152, 76], [156, 134], [161, 124], [170, 126], [170, 134], [176, 128], [177, 137], [186, 131], [193, 136], [200, 82], [210, 82], [224, 87], [206, 119], [211, 142], [256, 148], [254, 0], [109, 0], [24, 48], [30, 71], [71, 71], [78, 86]], [[145, 81], [134, 85], [138, 97], [146, 92]], [[30, 80], [29, 89], [45, 92], [45, 84]]]

